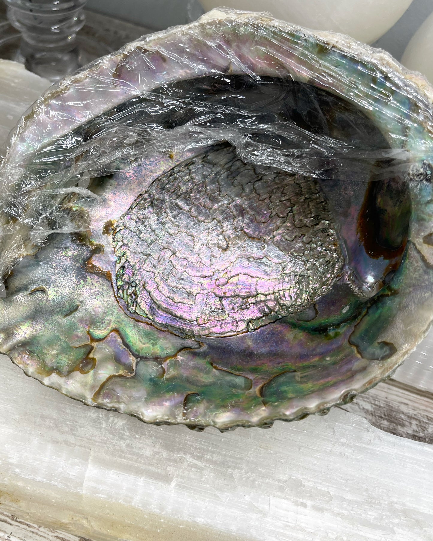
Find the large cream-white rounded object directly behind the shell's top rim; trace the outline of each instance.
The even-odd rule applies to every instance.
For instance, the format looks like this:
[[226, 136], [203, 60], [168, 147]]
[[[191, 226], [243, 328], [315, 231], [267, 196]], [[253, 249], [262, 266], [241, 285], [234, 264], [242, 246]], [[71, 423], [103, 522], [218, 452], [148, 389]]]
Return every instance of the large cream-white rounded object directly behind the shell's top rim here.
[[372, 43], [385, 34], [412, 0], [200, 0], [206, 10], [225, 5], [268, 11], [274, 17], [314, 30], [341, 32]]

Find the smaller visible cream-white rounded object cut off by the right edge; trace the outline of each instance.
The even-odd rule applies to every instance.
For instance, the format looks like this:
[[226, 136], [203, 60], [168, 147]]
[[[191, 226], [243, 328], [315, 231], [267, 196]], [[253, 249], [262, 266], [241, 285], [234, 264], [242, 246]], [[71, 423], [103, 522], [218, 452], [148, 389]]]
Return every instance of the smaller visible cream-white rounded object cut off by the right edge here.
[[404, 51], [402, 64], [419, 71], [433, 83], [433, 14], [415, 32]]

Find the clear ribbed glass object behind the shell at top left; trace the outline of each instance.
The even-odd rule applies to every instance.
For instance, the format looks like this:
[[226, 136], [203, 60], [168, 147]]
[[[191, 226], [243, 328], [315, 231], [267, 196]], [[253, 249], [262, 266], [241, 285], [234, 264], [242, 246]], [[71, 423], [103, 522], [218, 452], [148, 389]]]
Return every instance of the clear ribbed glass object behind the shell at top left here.
[[12, 26], [21, 32], [26, 67], [57, 81], [79, 66], [76, 34], [87, 0], [5, 0]]

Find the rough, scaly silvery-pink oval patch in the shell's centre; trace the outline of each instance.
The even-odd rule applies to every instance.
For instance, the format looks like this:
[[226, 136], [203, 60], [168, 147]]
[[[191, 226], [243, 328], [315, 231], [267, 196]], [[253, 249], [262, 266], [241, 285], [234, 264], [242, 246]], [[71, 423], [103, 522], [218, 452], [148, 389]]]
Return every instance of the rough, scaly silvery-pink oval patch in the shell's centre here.
[[318, 182], [246, 164], [227, 146], [156, 179], [113, 238], [129, 311], [196, 336], [300, 312], [344, 265]]

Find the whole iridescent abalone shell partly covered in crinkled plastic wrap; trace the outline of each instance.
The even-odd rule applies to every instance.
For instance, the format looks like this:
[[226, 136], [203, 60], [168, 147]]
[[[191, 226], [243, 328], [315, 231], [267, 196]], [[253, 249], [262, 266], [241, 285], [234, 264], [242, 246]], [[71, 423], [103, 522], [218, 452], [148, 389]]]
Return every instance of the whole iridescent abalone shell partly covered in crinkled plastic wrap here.
[[152, 423], [268, 426], [433, 314], [432, 99], [383, 51], [214, 10], [51, 87], [0, 170], [0, 348]]

